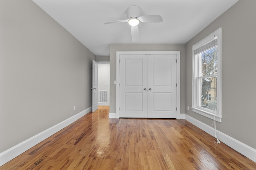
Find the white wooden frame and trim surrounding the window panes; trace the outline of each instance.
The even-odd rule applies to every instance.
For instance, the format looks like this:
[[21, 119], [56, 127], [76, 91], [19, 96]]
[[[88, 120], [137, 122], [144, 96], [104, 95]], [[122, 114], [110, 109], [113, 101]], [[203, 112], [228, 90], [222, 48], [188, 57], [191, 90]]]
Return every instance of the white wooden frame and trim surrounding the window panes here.
[[[218, 73], [217, 73], [217, 96], [218, 96], [218, 102], [217, 102], [217, 111], [211, 111], [209, 109], [206, 109], [204, 107], [200, 107], [198, 106], [199, 100], [201, 100], [198, 97], [198, 94], [200, 92], [199, 88], [201, 87], [201, 84], [198, 84], [198, 80], [200, 78], [201, 75], [200, 74], [200, 61], [201, 61], [201, 57], [197, 57], [196, 55], [194, 55], [194, 50], [198, 49], [199, 47], [205, 45], [206, 43], [212, 41], [214, 39], [214, 37], [218, 37], [217, 38], [217, 53], [218, 53], [218, 60], [217, 60], [217, 64], [218, 64]], [[205, 37], [204, 39], [202, 39], [201, 41], [199, 41], [198, 43], [194, 44], [192, 46], [192, 54], [193, 54], [193, 81], [192, 81], [192, 111], [203, 115], [205, 117], [208, 117], [210, 119], [215, 119], [218, 122], [221, 122], [222, 119], [222, 86], [221, 86], [221, 78], [222, 78], [222, 28], [218, 28], [216, 31], [214, 31], [213, 33], [211, 33], [210, 35], [208, 35], [207, 37]], [[201, 53], [200, 53], [201, 54]], [[197, 55], [200, 55], [197, 54]], [[212, 76], [209, 76], [212, 77]], [[216, 76], [214, 76], [216, 77]], [[201, 77], [202, 78], [202, 77]]]

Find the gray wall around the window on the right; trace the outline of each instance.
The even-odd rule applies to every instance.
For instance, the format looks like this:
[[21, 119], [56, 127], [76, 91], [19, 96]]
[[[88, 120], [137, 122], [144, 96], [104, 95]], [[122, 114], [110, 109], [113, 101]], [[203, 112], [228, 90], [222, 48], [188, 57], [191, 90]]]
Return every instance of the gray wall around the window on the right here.
[[[256, 1], [240, 0], [186, 43], [186, 106], [192, 106], [192, 45], [222, 27], [222, 123], [217, 129], [256, 149]], [[212, 126], [212, 119], [186, 114]]]

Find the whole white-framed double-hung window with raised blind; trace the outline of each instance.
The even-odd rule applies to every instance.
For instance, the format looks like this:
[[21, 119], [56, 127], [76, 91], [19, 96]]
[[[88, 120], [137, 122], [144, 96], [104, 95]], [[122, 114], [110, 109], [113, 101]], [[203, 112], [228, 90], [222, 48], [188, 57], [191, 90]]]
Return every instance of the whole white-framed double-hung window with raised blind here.
[[221, 28], [193, 45], [194, 112], [221, 122]]

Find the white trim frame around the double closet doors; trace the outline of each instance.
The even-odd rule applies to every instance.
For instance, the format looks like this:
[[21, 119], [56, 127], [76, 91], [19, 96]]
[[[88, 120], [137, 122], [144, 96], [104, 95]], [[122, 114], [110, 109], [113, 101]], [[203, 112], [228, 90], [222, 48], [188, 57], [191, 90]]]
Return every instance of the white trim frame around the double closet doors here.
[[119, 55], [124, 54], [176, 54], [177, 55], [177, 116], [180, 119], [180, 51], [116, 51], [116, 118], [119, 117], [120, 108], [120, 78], [119, 78]]

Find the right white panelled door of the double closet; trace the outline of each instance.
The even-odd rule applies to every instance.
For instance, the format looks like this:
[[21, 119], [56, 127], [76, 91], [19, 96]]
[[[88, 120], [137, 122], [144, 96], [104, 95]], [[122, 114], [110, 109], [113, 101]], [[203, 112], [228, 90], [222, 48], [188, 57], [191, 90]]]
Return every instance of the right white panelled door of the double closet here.
[[176, 59], [176, 55], [148, 55], [148, 117], [177, 117]]

